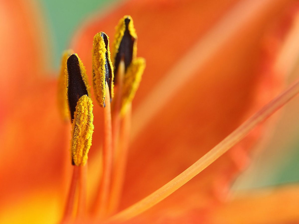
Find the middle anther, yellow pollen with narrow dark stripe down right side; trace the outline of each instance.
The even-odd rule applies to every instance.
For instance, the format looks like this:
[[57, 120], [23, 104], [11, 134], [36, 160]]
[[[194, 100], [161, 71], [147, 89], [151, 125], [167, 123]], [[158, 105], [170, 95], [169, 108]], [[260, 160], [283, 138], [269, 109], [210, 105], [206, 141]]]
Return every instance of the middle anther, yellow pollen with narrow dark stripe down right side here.
[[109, 37], [103, 32], [94, 36], [92, 74], [95, 98], [102, 107], [105, 107], [106, 83], [109, 87], [110, 99], [113, 98], [114, 73], [110, 60]]

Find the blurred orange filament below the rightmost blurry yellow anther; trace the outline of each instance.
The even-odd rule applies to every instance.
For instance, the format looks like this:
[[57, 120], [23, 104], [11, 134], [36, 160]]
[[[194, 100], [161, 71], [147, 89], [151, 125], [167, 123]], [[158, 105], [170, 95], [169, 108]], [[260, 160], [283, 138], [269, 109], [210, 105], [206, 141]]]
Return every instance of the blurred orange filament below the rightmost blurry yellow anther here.
[[125, 177], [125, 168], [129, 148], [129, 137], [131, 128], [131, 105], [128, 107], [120, 127], [120, 139], [117, 145], [117, 154], [115, 156], [115, 167], [112, 176], [112, 187], [110, 194], [108, 214], [113, 214], [120, 202]]

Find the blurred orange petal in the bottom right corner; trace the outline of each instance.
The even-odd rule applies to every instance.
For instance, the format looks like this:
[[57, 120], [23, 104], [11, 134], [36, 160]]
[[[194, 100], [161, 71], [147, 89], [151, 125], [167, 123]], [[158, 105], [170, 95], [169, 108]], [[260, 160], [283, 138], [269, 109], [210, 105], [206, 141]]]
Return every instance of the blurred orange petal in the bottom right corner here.
[[210, 214], [210, 223], [299, 223], [298, 203], [298, 185], [237, 193]]

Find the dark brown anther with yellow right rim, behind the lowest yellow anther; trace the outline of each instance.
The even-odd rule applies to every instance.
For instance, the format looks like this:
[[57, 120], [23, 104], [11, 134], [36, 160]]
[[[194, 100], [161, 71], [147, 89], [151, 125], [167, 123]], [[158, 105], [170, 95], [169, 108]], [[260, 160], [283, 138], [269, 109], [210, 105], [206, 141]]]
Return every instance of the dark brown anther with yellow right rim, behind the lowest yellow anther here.
[[90, 97], [90, 86], [88, 84], [86, 69], [77, 54], [68, 57], [65, 69], [66, 96], [68, 99], [71, 120], [79, 98], [83, 95]]

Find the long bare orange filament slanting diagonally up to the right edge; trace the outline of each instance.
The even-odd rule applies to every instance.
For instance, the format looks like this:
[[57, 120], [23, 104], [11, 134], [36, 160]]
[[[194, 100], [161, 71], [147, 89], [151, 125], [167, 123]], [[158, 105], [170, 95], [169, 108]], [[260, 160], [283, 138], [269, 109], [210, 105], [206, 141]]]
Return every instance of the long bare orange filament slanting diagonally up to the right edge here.
[[260, 111], [251, 116], [247, 121], [240, 125], [235, 131], [223, 139], [218, 145], [212, 148], [203, 157], [197, 160], [193, 165], [172, 179], [170, 182], [145, 197], [141, 201], [119, 212], [111, 217], [108, 222], [125, 221], [129, 220], [138, 214], [148, 210], [158, 202], [164, 200], [170, 194], [175, 192], [190, 179], [195, 177], [210, 164], [212, 164], [221, 155], [227, 152], [231, 147], [242, 140], [250, 131], [252, 131], [258, 124], [266, 120], [275, 111], [285, 105], [290, 99], [299, 93], [299, 80], [291, 87], [286, 89], [283, 93], [265, 105]]

